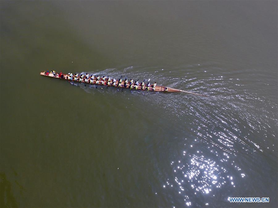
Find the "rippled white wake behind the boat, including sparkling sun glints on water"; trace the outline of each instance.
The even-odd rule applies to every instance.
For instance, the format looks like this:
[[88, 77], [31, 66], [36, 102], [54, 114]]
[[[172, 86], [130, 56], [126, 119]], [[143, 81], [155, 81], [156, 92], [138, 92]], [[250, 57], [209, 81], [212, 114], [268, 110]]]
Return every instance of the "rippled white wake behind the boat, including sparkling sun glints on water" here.
[[[227, 199], [227, 190], [236, 190], [241, 194], [239, 187], [246, 182], [246, 171], [253, 168], [248, 163], [249, 159], [261, 158], [265, 151], [270, 154], [272, 162], [277, 157], [273, 144], [277, 137], [277, 104], [254, 93], [236, 74], [227, 74], [218, 69], [219, 73], [213, 75], [209, 73], [209, 66], [206, 68], [197, 72], [184, 70], [186, 73], [183, 70], [158, 68], [141, 72], [144, 69], [137, 71], [135, 67], [122, 71], [106, 69], [98, 73], [87, 72], [116, 79], [121, 75], [134, 80], [151, 79], [159, 85], [209, 95], [124, 92], [128, 99], [152, 104], [155, 106], [153, 108], [163, 111], [155, 114], [151, 108], [138, 106], [139, 111], [157, 120], [163, 120], [166, 116], [167, 125], [175, 129], [172, 138], [178, 139], [169, 148], [169, 164], [165, 170], [161, 170], [164, 180], [161, 181], [160, 193], [173, 198], [173, 206], [215, 206], [213, 198]], [[82, 88], [89, 93], [96, 92], [95, 89]], [[118, 92], [114, 90], [109, 93]], [[137, 98], [134, 98], [134, 94], [138, 95]], [[253, 139], [258, 137], [261, 140]], [[175, 156], [171, 156], [171, 153]], [[221, 194], [221, 189], [226, 190], [226, 195]], [[192, 204], [198, 201], [202, 203]]]

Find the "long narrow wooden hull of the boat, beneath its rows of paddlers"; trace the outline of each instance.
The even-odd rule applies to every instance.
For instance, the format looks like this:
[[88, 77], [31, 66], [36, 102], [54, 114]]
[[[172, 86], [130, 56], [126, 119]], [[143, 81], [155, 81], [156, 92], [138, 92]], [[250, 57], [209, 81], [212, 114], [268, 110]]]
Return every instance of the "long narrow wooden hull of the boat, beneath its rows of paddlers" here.
[[[68, 76], [69, 76], [69, 75], [67, 75], [67, 74], [63, 74], [63, 77], [61, 78], [61, 77], [59, 77], [57, 74], [56, 74], [56, 75], [53, 75], [53, 73], [49, 73], [48, 75], [46, 75], [45, 72], [40, 72], [40, 75], [47, 76], [47, 77], [52, 77], [52, 78], [56, 78], [56, 79], [62, 79], [62, 80], [68, 80]], [[111, 78], [111, 80], [113, 80], [113, 79]], [[68, 80], [68, 81], [71, 81], [71, 82], [78, 82], [78, 83], [84, 83], [84, 84], [90, 84], [90, 81], [89, 81], [89, 82], [85, 82], [85, 78], [82, 80], [82, 82], [80, 82], [80, 81], [74, 81], [74, 79], [73, 79], [73, 80]], [[124, 88], [124, 86], [123, 86], [123, 85], [124, 85], [124, 81], [122, 81], [121, 87], [118, 87], [118, 82], [119, 82], [119, 81], [117, 80], [117, 81], [116, 81], [116, 86], [117, 86], [116, 88]], [[104, 81], [104, 84], [96, 84], [95, 81], [94, 81], [94, 82], [93, 82], [93, 85], [108, 86], [108, 85], [107, 85], [107, 80]], [[110, 85], [110, 86], [114, 87], [113, 85]], [[129, 89], [129, 87], [130, 87], [130, 85], [129, 85], [129, 83], [128, 83], [126, 88]], [[165, 89], [167, 89], [167, 90], [165, 90]], [[141, 90], [141, 86], [138, 86], [137, 90]], [[146, 90], [147, 90], [147, 89], [146, 89], [146, 87], [145, 87], [144, 91], [146, 91]], [[197, 94], [197, 93], [193, 93], [193, 92], [187, 92], [187, 91], [184, 91], [184, 90], [178, 90], [178, 89], [168, 88], [168, 87], [158, 86], [158, 85], [155, 86], [155, 89], [153, 89], [153, 88], [150, 87], [150, 91], [154, 91], [154, 92], [186, 92], [186, 93], [190, 93], [190, 94], [193, 94], [193, 95], [207, 96], [207, 95], [201, 95], [201, 94]]]

